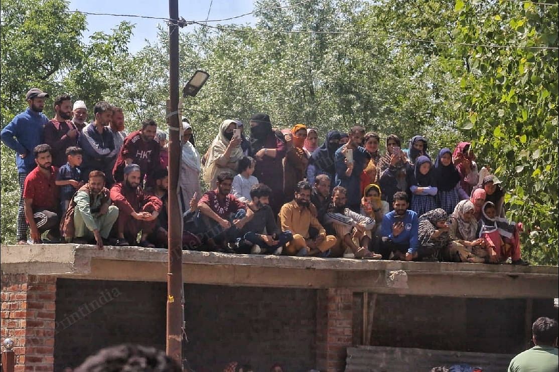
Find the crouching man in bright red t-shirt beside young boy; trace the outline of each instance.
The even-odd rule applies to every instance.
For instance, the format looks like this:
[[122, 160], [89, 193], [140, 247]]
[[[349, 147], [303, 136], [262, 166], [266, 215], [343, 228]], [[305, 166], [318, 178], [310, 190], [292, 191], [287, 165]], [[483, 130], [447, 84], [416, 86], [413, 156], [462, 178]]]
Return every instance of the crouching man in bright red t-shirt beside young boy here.
[[23, 185], [23, 203], [25, 218], [31, 231], [31, 244], [41, 244], [41, 233], [50, 230], [47, 239], [57, 242], [58, 230], [58, 187], [56, 174], [58, 169], [52, 166], [50, 146], [35, 146], [33, 155], [37, 167], [30, 171]]

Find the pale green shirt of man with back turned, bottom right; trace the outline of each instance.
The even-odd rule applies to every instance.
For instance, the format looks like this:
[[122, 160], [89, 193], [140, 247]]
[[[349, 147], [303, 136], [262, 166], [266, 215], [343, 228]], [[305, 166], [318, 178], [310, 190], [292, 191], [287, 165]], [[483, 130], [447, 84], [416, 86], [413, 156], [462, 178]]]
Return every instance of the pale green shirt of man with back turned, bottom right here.
[[510, 361], [509, 372], [559, 372], [557, 347], [534, 346]]

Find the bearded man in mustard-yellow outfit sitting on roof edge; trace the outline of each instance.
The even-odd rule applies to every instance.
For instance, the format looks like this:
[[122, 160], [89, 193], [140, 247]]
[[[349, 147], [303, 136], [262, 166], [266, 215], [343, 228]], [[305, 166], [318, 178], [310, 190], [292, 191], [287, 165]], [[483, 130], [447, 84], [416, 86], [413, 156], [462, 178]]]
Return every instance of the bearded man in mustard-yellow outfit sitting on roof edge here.
[[280, 212], [282, 231], [291, 231], [293, 240], [286, 245], [287, 254], [327, 257], [336, 244], [336, 237], [326, 235], [324, 227], [316, 219], [316, 208], [310, 202], [311, 185], [306, 181], [297, 183], [295, 199], [283, 204]]

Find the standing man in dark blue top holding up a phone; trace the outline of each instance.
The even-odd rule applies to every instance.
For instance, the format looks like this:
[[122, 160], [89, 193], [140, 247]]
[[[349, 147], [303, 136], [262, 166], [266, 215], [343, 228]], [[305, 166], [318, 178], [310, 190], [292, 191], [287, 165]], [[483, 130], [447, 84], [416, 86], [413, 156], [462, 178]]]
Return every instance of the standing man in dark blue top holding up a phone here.
[[[362, 146], [364, 136], [365, 128], [359, 125], [352, 127], [349, 131], [348, 143], [336, 150], [334, 155], [336, 185], [343, 186], [347, 190], [348, 207], [357, 213], [361, 208], [361, 173], [371, 159]], [[352, 152], [353, 159], [348, 159], [349, 152]]]

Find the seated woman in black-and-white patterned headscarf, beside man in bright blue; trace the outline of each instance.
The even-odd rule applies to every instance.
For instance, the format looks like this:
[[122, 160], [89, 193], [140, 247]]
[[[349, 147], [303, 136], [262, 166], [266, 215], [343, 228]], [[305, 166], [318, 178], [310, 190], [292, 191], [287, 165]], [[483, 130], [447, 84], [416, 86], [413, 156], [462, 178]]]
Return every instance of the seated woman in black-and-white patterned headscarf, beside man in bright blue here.
[[446, 254], [451, 237], [448, 235], [448, 214], [442, 208], [433, 209], [419, 217], [419, 245], [432, 245], [430, 251], [440, 261]]

